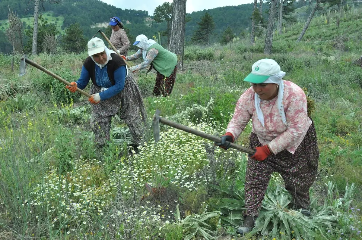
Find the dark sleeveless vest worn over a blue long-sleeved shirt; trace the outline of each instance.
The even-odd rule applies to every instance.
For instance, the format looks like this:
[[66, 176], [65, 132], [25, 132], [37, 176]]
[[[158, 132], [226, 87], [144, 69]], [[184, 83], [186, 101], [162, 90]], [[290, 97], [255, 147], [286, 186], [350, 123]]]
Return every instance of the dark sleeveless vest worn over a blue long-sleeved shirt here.
[[[115, 84], [114, 81], [114, 71], [117, 70], [119, 67], [121, 66], [126, 66], [125, 61], [123, 60], [122, 57], [118, 56], [116, 53], [111, 53], [111, 57], [112, 59], [108, 61], [107, 63], [107, 73], [108, 73], [108, 78], [109, 81], [112, 83], [112, 85]], [[98, 86], [96, 83], [96, 63], [94, 63], [94, 61], [92, 60], [92, 58], [87, 57], [84, 60], [83, 66], [85, 67], [85, 69], [87, 69], [89, 75], [90, 75], [90, 79], [92, 79], [92, 82], [95, 86]], [[100, 87], [100, 86], [98, 86]]]

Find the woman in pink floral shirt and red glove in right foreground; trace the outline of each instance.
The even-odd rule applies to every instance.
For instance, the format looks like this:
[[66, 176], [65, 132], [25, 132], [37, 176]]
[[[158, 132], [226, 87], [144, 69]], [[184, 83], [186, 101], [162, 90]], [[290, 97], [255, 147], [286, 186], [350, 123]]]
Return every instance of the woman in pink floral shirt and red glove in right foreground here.
[[282, 80], [285, 72], [272, 59], [253, 64], [244, 81], [252, 87], [239, 98], [221, 143], [228, 149], [252, 120], [250, 146], [256, 152], [248, 158], [245, 176], [244, 223], [236, 230], [244, 234], [254, 227], [271, 173], [279, 172], [293, 196], [294, 209], [311, 216], [309, 188], [317, 174], [319, 150], [316, 131], [307, 114], [304, 91]]

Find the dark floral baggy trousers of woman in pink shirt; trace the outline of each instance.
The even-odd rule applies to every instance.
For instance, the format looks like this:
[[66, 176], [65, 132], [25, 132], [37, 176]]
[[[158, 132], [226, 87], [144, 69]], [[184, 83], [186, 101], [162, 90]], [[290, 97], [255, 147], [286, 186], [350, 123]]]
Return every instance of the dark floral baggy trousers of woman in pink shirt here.
[[[250, 135], [250, 147], [261, 146], [255, 133]], [[309, 209], [309, 188], [317, 175], [319, 150], [314, 124], [309, 127], [302, 143], [294, 154], [283, 150], [264, 161], [248, 158], [245, 176], [245, 207], [243, 215], [257, 217], [268, 187], [271, 173], [279, 172], [285, 188], [293, 197], [293, 207]]]

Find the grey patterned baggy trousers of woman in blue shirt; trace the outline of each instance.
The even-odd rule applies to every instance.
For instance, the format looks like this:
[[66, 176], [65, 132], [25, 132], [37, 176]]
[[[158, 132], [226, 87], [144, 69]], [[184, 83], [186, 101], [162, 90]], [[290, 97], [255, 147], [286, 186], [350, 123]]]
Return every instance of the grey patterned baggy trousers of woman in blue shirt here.
[[[101, 87], [92, 86], [90, 94], [100, 93]], [[143, 104], [141, 92], [134, 81], [132, 74], [128, 74], [125, 87], [117, 95], [103, 100], [98, 104], [91, 104], [92, 117], [90, 124], [98, 146], [110, 140], [111, 117], [118, 115], [129, 127], [134, 143], [138, 146], [144, 142], [147, 126], [147, 114]]]

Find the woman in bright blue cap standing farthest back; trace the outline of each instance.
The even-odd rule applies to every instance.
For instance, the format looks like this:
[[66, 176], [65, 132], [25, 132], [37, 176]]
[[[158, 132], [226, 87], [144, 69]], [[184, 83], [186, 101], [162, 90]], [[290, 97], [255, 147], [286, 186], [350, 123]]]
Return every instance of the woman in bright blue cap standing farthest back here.
[[130, 48], [130, 40], [128, 40], [126, 31], [123, 29], [121, 20], [119, 17], [111, 17], [109, 25], [112, 27], [110, 42], [117, 48], [117, 51], [121, 53], [121, 55], [127, 56]]

